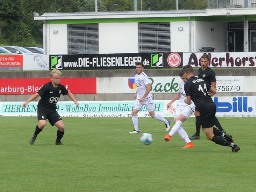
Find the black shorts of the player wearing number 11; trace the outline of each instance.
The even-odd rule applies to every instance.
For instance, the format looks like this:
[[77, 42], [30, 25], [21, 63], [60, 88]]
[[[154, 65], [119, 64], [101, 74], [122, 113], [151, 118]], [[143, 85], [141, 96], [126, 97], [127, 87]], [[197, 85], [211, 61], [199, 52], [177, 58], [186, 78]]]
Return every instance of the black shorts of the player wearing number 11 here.
[[200, 109], [201, 124], [203, 128], [210, 128], [214, 125], [216, 105], [209, 105]]

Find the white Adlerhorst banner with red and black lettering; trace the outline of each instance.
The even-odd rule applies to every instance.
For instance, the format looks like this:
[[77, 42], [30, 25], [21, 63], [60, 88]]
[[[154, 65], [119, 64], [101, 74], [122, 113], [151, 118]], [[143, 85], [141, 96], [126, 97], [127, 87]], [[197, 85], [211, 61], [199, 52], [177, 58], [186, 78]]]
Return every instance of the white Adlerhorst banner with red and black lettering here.
[[[183, 66], [201, 67], [204, 52], [183, 52]], [[208, 53], [207, 53], [208, 54]], [[209, 67], [256, 67], [256, 52], [210, 52]]]

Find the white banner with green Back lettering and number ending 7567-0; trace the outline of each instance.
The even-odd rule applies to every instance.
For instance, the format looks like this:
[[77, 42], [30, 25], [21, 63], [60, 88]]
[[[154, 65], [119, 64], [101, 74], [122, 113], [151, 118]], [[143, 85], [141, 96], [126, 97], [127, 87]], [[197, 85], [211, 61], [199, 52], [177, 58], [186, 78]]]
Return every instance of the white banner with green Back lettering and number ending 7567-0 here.
[[[152, 93], [177, 93], [180, 77], [148, 77], [151, 80]], [[216, 76], [217, 93], [244, 92], [244, 76]], [[134, 77], [123, 77], [123, 93], [135, 93]]]

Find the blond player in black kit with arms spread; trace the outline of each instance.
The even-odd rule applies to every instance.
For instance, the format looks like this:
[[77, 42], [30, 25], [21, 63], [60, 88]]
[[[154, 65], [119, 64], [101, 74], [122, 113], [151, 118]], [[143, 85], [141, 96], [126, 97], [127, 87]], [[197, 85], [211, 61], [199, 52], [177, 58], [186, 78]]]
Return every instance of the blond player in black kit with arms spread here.
[[63, 145], [63, 143], [61, 143], [61, 138], [64, 135], [65, 126], [61, 116], [56, 111], [56, 103], [60, 99], [61, 94], [67, 95], [71, 100], [73, 100], [73, 102], [75, 102], [76, 107], [79, 106], [75, 96], [68, 91], [64, 85], [60, 84], [61, 71], [52, 70], [50, 78], [51, 81], [49, 83], [44, 84], [37, 93], [32, 95], [25, 103], [23, 103], [23, 107], [26, 108], [29, 102], [38, 98], [38, 96], [41, 96], [41, 99], [38, 102], [38, 125], [36, 125], [35, 133], [29, 140], [31, 145], [35, 143], [36, 137], [46, 125], [46, 119], [48, 119], [52, 126], [55, 125], [58, 128], [55, 144]]

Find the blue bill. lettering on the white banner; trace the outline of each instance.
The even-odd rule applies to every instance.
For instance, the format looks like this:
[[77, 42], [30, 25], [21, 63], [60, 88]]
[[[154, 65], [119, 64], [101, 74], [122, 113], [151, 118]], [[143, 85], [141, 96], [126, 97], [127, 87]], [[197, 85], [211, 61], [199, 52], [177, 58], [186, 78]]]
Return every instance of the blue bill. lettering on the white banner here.
[[248, 97], [233, 97], [233, 102], [218, 102], [218, 97], [214, 97], [213, 101], [216, 105], [216, 112], [251, 112], [252, 107], [247, 108]]

